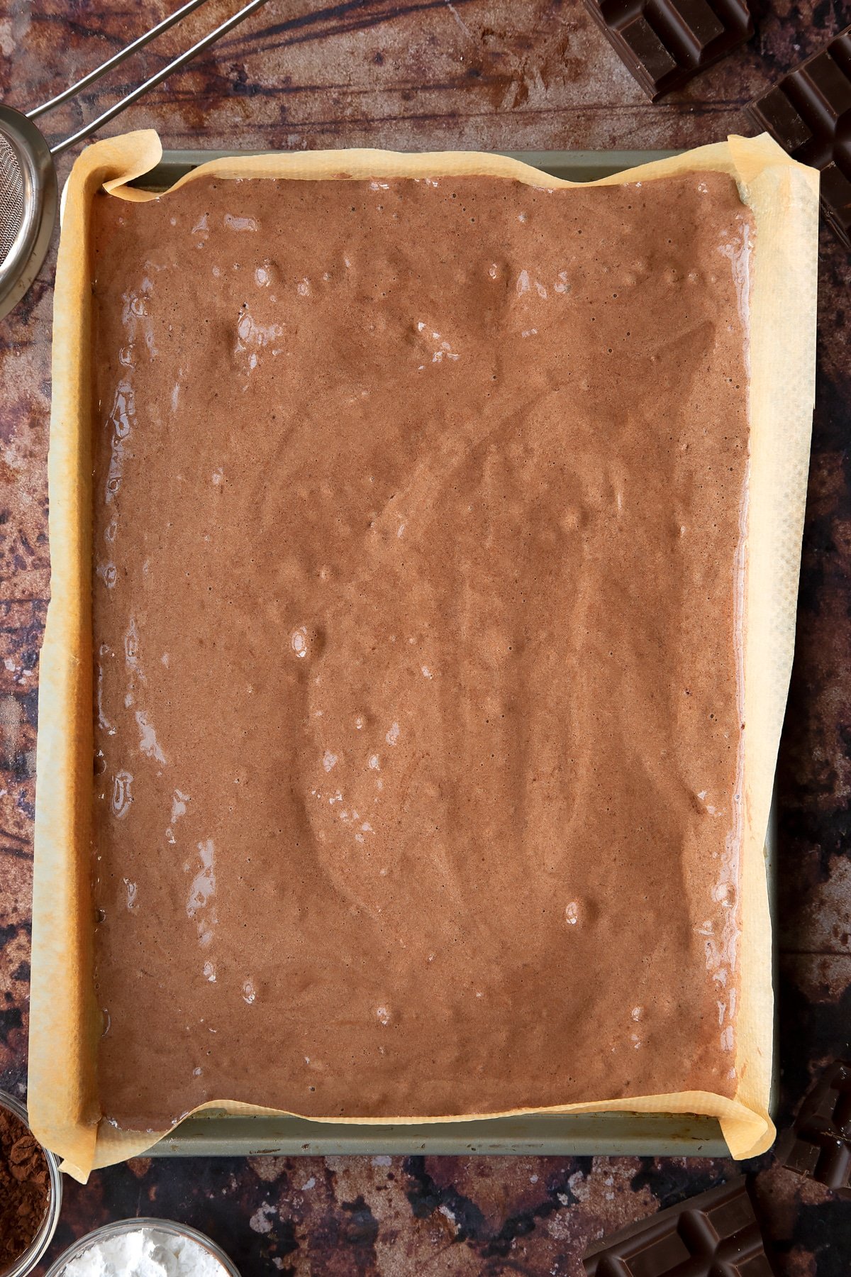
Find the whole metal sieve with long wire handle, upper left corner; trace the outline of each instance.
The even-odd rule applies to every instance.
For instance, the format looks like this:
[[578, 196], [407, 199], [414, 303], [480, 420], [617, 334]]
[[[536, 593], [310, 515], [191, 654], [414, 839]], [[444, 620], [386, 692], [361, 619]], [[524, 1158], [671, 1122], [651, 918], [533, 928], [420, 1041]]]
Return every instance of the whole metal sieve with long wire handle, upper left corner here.
[[174, 57], [162, 70], [151, 75], [108, 110], [56, 146], [51, 147], [32, 121], [40, 115], [45, 115], [46, 111], [61, 106], [80, 89], [93, 84], [101, 75], [106, 75], [114, 66], [122, 63], [125, 57], [130, 57], [148, 41], [154, 40], [163, 31], [168, 31], [170, 27], [174, 27], [181, 18], [204, 3], [205, 0], [186, 0], [186, 4], [158, 22], [151, 31], [139, 36], [112, 57], [107, 57], [88, 75], [83, 75], [77, 83], [32, 111], [22, 114], [0, 102], [0, 319], [23, 298], [47, 255], [59, 204], [54, 156], [61, 155], [77, 142], [88, 138], [149, 88], [161, 84], [172, 72], [185, 66], [195, 54], [209, 49], [219, 36], [225, 36], [244, 18], [265, 4], [265, 0], [250, 0], [250, 4], [244, 5], [231, 18], [219, 23], [214, 31], [196, 41], [191, 49], [180, 54], [179, 57]]

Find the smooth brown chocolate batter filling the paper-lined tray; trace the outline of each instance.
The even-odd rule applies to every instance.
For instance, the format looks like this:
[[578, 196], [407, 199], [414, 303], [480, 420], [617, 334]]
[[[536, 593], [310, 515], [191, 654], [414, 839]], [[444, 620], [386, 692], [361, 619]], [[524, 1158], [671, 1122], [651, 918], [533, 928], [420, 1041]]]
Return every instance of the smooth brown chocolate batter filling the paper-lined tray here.
[[732, 180], [94, 216], [105, 1114], [731, 1094]]

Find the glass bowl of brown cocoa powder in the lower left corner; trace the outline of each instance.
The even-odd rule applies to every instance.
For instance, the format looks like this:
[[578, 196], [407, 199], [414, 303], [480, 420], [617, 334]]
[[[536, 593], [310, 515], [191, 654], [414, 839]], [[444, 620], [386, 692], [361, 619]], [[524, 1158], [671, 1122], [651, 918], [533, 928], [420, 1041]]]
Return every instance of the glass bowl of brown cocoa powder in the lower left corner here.
[[27, 1110], [0, 1091], [0, 1277], [26, 1277], [42, 1259], [59, 1220], [59, 1162], [38, 1143]]

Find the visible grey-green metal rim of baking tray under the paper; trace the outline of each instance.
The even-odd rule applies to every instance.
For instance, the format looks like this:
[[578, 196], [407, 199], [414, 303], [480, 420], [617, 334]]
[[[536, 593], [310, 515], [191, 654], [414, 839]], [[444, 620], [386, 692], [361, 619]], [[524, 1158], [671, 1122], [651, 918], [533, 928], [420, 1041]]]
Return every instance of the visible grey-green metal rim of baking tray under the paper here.
[[[207, 160], [235, 151], [163, 151], [159, 163], [131, 185], [144, 190], [167, 190], [175, 181]], [[554, 178], [593, 181], [624, 169], [665, 160], [676, 151], [512, 151], [500, 152], [522, 160]], [[773, 812], [766, 840], [769, 898], [773, 914], [774, 881], [772, 849]], [[777, 1052], [774, 1051], [774, 1060]], [[772, 1083], [774, 1111], [777, 1066]], [[527, 1154], [527, 1156], [634, 1156], [634, 1157], [729, 1157], [730, 1152], [714, 1117], [683, 1114], [532, 1114], [521, 1117], [482, 1117], [476, 1121], [420, 1122], [388, 1126], [357, 1122], [316, 1122], [304, 1117], [237, 1116], [223, 1110], [205, 1110], [186, 1117], [171, 1135], [151, 1149], [153, 1157], [315, 1157], [361, 1153], [412, 1156]]]

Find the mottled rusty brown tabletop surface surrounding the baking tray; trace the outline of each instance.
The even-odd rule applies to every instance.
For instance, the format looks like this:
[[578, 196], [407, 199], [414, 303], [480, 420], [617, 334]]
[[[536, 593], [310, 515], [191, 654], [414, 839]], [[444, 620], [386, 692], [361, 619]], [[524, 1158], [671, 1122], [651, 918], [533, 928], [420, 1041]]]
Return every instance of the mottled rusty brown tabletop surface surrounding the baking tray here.
[[[176, 3], [176, 0], [175, 0]], [[186, 23], [51, 117], [108, 105], [236, 0]], [[0, 0], [0, 94], [31, 106], [172, 8]], [[581, 0], [269, 0], [196, 66], [133, 107], [167, 147], [398, 149], [683, 147], [750, 132], [743, 107], [847, 22], [840, 0], [757, 4], [757, 36], [651, 105]], [[117, 130], [119, 125], [114, 125]], [[64, 176], [68, 160], [61, 165]], [[0, 322], [0, 1084], [26, 1091], [38, 646], [54, 258]], [[799, 645], [778, 782], [782, 1110], [851, 1046], [851, 268], [822, 236], [819, 382]], [[665, 1158], [140, 1158], [66, 1185], [51, 1255], [111, 1218], [153, 1213], [214, 1236], [260, 1273], [568, 1274], [624, 1222], [729, 1175]], [[847, 1277], [851, 1203], [772, 1167], [755, 1180], [778, 1277]]]

